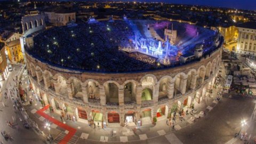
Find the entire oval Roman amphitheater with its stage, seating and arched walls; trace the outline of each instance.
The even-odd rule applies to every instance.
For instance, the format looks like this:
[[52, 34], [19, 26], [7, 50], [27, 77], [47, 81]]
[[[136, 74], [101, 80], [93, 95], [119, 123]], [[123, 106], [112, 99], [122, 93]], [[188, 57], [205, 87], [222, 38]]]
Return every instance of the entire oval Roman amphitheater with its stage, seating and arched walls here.
[[205, 99], [222, 43], [214, 31], [187, 23], [100, 21], [37, 34], [26, 62], [34, 92], [54, 113], [84, 123], [143, 125]]

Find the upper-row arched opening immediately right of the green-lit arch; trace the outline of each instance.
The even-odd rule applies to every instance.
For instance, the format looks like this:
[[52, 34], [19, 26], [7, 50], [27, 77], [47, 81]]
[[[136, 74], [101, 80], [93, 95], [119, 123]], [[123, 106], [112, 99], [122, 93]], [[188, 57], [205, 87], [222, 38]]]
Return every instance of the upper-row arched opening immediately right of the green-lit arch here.
[[170, 89], [171, 78], [163, 78], [159, 83], [158, 100], [168, 99], [168, 89]]

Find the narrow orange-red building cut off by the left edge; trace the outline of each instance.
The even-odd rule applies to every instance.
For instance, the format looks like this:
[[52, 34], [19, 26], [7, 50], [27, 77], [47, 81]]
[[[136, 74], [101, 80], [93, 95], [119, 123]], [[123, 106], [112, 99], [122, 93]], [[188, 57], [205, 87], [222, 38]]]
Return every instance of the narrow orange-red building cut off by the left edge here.
[[0, 81], [4, 81], [9, 72], [4, 46], [5, 44], [0, 42]]

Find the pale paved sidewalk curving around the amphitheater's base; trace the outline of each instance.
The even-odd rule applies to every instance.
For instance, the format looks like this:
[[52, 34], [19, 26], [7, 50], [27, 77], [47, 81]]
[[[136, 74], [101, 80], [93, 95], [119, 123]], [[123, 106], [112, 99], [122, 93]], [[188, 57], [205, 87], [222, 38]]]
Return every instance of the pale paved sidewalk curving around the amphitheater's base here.
[[[27, 81], [27, 79], [23, 78], [23, 81]], [[23, 88], [25, 88], [26, 86], [28, 86], [28, 84], [23, 85]], [[217, 92], [219, 92], [219, 89], [213, 89], [211, 98], [209, 96], [206, 96], [205, 100], [202, 100], [200, 105], [195, 105], [196, 114], [198, 114], [200, 111], [204, 111], [206, 115], [210, 113], [211, 109], [218, 104], [218, 102], [214, 101], [214, 99], [217, 97]], [[31, 91], [29, 91], [27, 97], [28, 101], [31, 95], [33, 94]], [[35, 97], [33, 99], [35, 99]], [[55, 143], [63, 142], [63, 138], [65, 138], [65, 136], [70, 132], [65, 127], [58, 124], [58, 122], [61, 122], [60, 115], [50, 113], [50, 110], [47, 108], [44, 108], [44, 112], [43, 110], [40, 110], [43, 108], [41, 102], [35, 100], [31, 106], [27, 102], [27, 106], [25, 108], [28, 111], [29, 117], [33, 119], [33, 121], [37, 122], [39, 129], [41, 131], [44, 131], [46, 135], [49, 134], [49, 131], [44, 128], [44, 125], [45, 123], [51, 124], [50, 133], [54, 138]], [[41, 112], [38, 113], [38, 110], [40, 110]], [[185, 120], [183, 121], [177, 118], [174, 129], [166, 124], [166, 119], [164, 119], [163, 121], [158, 121], [156, 125], [143, 125], [140, 127], [140, 129], [137, 130], [134, 129], [135, 126], [106, 127], [105, 129], [102, 129], [101, 126], [96, 126], [96, 128], [93, 129], [93, 127], [89, 126], [88, 124], [73, 122], [67, 119], [63, 119], [62, 124], [73, 127], [73, 129], [76, 130], [74, 136], [69, 140], [69, 143], [84, 143], [85, 141], [127, 142], [146, 140], [158, 137], [160, 135], [165, 135], [167, 133], [171, 133], [175, 130], [178, 131], [198, 121], [198, 119], [195, 119], [195, 122], [191, 122], [189, 119], [192, 116], [194, 115], [188, 114], [184, 116]], [[111, 135], [111, 133], [113, 133], [113, 135]]]

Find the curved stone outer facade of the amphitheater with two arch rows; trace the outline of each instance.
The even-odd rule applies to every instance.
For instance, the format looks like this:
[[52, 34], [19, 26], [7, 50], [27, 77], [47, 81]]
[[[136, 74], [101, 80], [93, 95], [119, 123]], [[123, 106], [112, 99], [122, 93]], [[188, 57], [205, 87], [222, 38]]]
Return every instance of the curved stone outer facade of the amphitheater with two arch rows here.
[[[124, 126], [125, 117], [130, 114], [137, 123], [145, 116], [143, 111], [151, 111], [152, 119], [158, 117], [159, 109], [164, 109], [167, 118], [174, 105], [179, 111], [183, 106], [199, 103], [213, 87], [221, 53], [217, 49], [200, 61], [169, 69], [116, 74], [54, 67], [28, 53], [26, 58], [34, 90], [56, 113], [87, 122], [94, 117], [91, 112], [98, 111], [107, 124], [111, 123], [109, 115], [118, 114], [119, 123]], [[86, 111], [86, 118], [81, 118], [78, 109]]]

